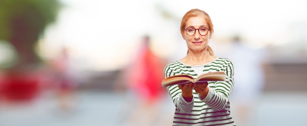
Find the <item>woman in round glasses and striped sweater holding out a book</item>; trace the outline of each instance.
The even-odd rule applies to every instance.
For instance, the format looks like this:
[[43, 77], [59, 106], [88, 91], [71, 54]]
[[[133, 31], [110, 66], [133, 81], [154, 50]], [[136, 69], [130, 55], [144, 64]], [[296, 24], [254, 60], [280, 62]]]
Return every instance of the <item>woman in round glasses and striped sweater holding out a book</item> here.
[[196, 78], [203, 73], [224, 71], [227, 81], [168, 86], [176, 106], [173, 126], [235, 126], [229, 102], [233, 65], [228, 59], [214, 57], [208, 46], [213, 33], [209, 15], [199, 9], [188, 11], [181, 20], [180, 32], [188, 52], [181, 60], [166, 65], [164, 76], [189, 74]]

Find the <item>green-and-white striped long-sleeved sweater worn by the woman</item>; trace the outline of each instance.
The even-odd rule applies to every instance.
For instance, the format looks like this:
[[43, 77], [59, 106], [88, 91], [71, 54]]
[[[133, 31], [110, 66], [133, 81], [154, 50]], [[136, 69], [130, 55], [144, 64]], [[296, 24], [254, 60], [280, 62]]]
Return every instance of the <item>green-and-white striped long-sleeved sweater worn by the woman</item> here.
[[[183, 64], [179, 61], [169, 63], [164, 68], [164, 76], [188, 74], [194, 78], [198, 74], [194, 66]], [[233, 87], [233, 65], [228, 59], [216, 60], [201, 65], [203, 73], [224, 71], [227, 75], [226, 82], [209, 82], [209, 92], [202, 98], [193, 89], [193, 100], [186, 102], [178, 85], [168, 86], [167, 90], [176, 106], [173, 126], [235, 126], [230, 115], [229, 97]]]

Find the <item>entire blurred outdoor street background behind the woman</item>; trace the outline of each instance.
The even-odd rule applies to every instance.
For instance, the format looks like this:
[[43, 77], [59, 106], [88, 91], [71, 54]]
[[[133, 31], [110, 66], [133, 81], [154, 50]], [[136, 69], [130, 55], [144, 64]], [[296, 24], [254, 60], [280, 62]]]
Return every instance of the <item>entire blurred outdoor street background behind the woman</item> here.
[[182, 16], [210, 15], [238, 126], [305, 126], [303, 0], [0, 0], [0, 126], [171, 126]]

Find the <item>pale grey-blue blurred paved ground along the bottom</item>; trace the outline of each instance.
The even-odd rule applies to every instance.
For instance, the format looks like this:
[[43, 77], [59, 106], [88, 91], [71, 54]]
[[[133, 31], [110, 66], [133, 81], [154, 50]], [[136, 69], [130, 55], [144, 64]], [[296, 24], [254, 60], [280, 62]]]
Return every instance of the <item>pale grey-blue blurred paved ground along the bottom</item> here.
[[[141, 108], [127, 98], [127, 94], [82, 91], [69, 112], [58, 108], [51, 93], [27, 104], [0, 101], [0, 126], [171, 126], [174, 106], [170, 99]], [[307, 93], [265, 93], [249, 126], [306, 126], [306, 106]], [[146, 124], [149, 118], [153, 119], [151, 125]]]

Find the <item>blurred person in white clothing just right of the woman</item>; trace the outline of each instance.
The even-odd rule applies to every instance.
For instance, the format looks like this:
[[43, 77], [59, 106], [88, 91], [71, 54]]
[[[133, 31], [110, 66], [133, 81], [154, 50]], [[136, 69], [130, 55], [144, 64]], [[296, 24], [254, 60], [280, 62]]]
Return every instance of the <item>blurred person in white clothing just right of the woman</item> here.
[[266, 51], [248, 46], [240, 36], [234, 36], [227, 57], [235, 69], [235, 87], [230, 97], [234, 119], [238, 126], [253, 126], [256, 106], [264, 86]]

